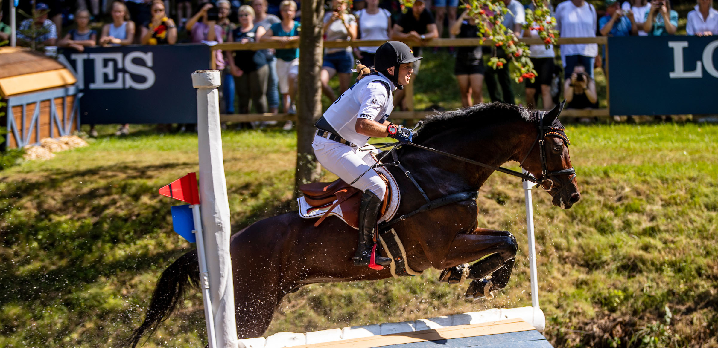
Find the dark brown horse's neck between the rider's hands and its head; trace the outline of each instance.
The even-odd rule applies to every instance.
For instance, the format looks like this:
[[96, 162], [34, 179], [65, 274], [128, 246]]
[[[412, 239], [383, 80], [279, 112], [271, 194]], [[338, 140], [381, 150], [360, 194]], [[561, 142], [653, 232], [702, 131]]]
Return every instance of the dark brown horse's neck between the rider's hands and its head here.
[[[491, 166], [500, 166], [516, 159], [521, 146], [523, 131], [528, 127], [520, 122], [488, 126], [473, 131], [470, 136], [465, 130], [447, 131], [424, 142], [424, 146], [455, 154]], [[493, 169], [452, 159], [426, 150], [411, 151], [405, 163], [415, 168], [416, 180], [436, 194], [452, 194], [477, 190], [493, 173]], [[404, 161], [404, 159], [402, 159]]]

